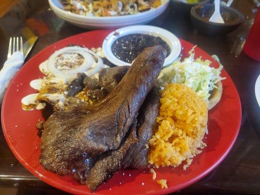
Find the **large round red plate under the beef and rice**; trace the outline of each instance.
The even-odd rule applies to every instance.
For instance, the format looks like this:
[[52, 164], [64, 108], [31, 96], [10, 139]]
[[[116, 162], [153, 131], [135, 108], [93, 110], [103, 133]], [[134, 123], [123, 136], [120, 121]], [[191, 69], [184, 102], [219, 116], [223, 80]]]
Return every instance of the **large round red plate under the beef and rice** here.
[[[103, 39], [110, 32], [100, 30], [83, 33], [45, 48], [21, 68], [10, 83], [3, 100], [2, 128], [7, 144], [14, 155], [33, 175], [72, 194], [90, 195], [90, 191], [86, 186], [79, 184], [73, 176], [58, 176], [43, 169], [39, 163], [40, 138], [37, 136], [35, 127], [38, 120], [43, 117], [39, 110], [23, 111], [20, 100], [28, 94], [36, 93], [29, 83], [31, 80], [43, 76], [39, 71], [39, 64], [48, 59], [54, 51], [69, 44], [79, 44], [89, 48], [100, 47]], [[194, 45], [185, 40], [180, 40], [180, 42], [183, 47], [182, 57], [186, 57]], [[209, 54], [199, 47], [196, 47], [195, 54], [196, 58], [201, 56], [202, 59], [212, 61], [212, 66], [219, 66]], [[182, 166], [156, 169], [156, 179], [167, 179], [168, 189], [161, 189], [160, 185], [152, 179], [149, 170], [121, 170], [112, 179], [101, 185], [95, 194], [168, 194], [198, 181], [220, 164], [232, 148], [241, 122], [241, 105], [237, 89], [225, 70], [222, 70], [221, 76], [226, 79], [222, 81], [221, 101], [209, 112], [209, 134], [204, 139], [208, 146], [194, 158], [186, 171], [182, 170]]]

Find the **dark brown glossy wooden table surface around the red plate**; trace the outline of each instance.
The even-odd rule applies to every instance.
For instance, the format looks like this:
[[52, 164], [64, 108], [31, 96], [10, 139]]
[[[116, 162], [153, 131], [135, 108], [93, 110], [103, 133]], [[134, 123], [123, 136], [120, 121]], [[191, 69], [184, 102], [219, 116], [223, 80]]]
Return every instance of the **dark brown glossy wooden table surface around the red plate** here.
[[[31, 9], [22, 13], [22, 18], [9, 14], [0, 20], [0, 65], [7, 56], [10, 36], [26, 37], [28, 33], [39, 36], [31, 57], [46, 46], [69, 36], [86, 32], [59, 19], [49, 9], [47, 0], [32, 1]], [[253, 0], [234, 0], [235, 7], [244, 16], [251, 17]], [[12, 21], [12, 22], [10, 22]], [[175, 12], [172, 4], [160, 18], [149, 23], [165, 28], [181, 39], [185, 39], [209, 54], [220, 58], [225, 70], [234, 80], [240, 94], [242, 122], [237, 141], [228, 156], [208, 176], [197, 183], [176, 192], [176, 194], [260, 194], [260, 108], [256, 103], [254, 85], [260, 75], [260, 62], [231, 53], [231, 48], [242, 28], [225, 37], [207, 37], [200, 34], [192, 25], [189, 17]], [[27, 27], [26, 27], [27, 26]], [[26, 28], [25, 28], [26, 27]], [[31, 29], [31, 30], [30, 30]], [[12, 154], [0, 131], [0, 189], [16, 188], [19, 195], [63, 195], [61, 192], [30, 174]], [[6, 192], [9, 192], [8, 189]], [[1, 193], [0, 193], [1, 194]], [[6, 193], [8, 194], [8, 193]], [[175, 193], [174, 193], [175, 194]]]

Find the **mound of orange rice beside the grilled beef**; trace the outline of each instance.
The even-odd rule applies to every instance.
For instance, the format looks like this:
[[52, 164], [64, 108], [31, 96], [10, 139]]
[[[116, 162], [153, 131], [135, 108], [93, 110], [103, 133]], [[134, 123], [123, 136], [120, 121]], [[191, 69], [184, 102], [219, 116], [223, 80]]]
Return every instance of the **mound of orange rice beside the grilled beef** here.
[[179, 166], [206, 146], [202, 139], [207, 131], [208, 110], [205, 100], [184, 84], [168, 84], [161, 91], [158, 131], [150, 139], [149, 163], [155, 167]]

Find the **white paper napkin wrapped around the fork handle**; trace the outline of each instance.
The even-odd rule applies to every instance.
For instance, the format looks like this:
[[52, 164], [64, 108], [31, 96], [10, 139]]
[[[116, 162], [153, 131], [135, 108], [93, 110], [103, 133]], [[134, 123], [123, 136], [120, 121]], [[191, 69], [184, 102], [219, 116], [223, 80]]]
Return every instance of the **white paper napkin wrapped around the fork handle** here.
[[0, 70], [0, 105], [2, 104], [3, 96], [6, 88], [15, 74], [20, 70], [24, 63], [24, 55], [21, 52], [15, 52], [3, 65]]

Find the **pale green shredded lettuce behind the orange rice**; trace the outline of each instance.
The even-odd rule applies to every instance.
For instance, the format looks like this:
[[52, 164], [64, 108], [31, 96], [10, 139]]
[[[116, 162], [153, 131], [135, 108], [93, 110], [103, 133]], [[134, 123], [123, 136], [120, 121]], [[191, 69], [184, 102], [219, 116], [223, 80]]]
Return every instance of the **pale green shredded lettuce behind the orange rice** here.
[[218, 88], [216, 83], [225, 79], [220, 77], [223, 66], [220, 64], [219, 68], [213, 68], [209, 66], [211, 64], [209, 60], [194, 59], [194, 48], [189, 54], [190, 56], [183, 61], [177, 59], [164, 68], [160, 73], [157, 84], [163, 89], [169, 83], [184, 83], [208, 102], [210, 92], [214, 88]]

